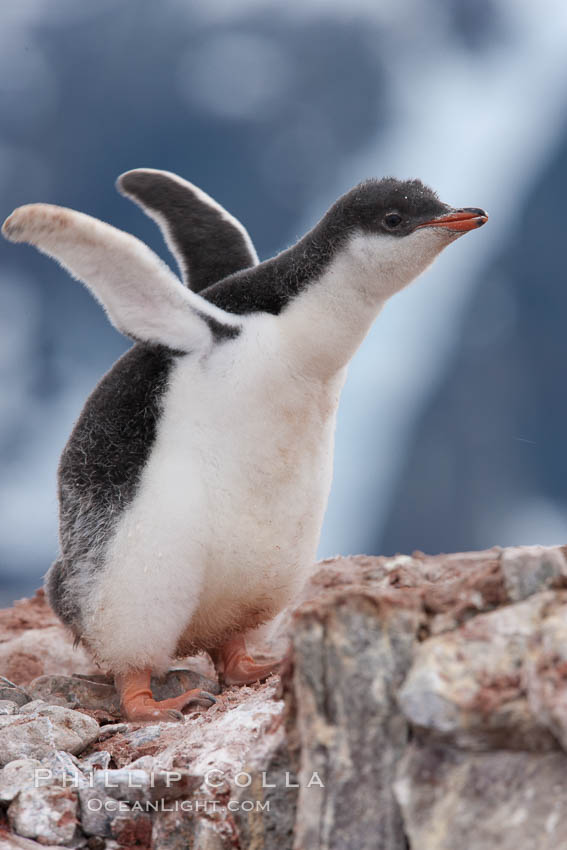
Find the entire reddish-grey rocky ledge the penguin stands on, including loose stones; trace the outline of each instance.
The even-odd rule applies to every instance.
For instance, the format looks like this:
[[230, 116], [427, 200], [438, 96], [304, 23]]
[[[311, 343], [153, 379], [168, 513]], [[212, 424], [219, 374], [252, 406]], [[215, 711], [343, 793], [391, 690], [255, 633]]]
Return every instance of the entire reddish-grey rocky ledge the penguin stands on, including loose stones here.
[[324, 561], [256, 652], [286, 647], [129, 724], [41, 591], [0, 612], [0, 850], [567, 847], [567, 549]]

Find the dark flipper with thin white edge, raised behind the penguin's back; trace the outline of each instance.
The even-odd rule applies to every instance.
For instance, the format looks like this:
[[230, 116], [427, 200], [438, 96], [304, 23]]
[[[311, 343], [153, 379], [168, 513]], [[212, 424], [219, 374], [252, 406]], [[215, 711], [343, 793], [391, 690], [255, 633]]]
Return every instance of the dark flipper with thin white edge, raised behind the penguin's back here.
[[182, 177], [136, 168], [121, 174], [116, 187], [157, 223], [193, 292], [257, 265], [252, 240], [238, 219]]

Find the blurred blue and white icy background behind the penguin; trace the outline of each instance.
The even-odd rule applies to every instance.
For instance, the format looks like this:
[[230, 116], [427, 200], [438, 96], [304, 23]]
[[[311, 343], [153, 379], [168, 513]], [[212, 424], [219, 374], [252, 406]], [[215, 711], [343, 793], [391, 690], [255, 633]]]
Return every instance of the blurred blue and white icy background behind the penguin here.
[[[563, 0], [2, 0], [0, 217], [63, 204], [169, 259], [113, 190], [139, 166], [202, 186], [262, 258], [367, 176], [487, 208], [352, 364], [321, 555], [567, 542], [566, 45]], [[8, 603], [56, 553], [59, 453], [128, 342], [0, 251]]]

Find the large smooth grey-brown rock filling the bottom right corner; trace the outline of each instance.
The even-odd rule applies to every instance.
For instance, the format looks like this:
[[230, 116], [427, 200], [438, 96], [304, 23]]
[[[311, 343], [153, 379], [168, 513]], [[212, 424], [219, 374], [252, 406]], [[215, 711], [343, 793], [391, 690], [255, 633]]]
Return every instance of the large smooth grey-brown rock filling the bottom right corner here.
[[412, 744], [394, 785], [411, 850], [567, 847], [563, 753]]

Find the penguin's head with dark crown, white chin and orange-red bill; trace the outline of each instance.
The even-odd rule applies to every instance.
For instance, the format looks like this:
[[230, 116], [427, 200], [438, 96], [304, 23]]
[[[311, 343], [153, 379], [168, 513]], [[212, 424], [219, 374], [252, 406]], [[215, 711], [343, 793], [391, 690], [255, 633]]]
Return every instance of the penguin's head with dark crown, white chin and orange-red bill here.
[[[421, 180], [366, 180], [331, 207], [323, 221], [351, 262], [389, 297], [416, 278], [451, 242], [488, 219], [484, 210], [455, 209]], [[345, 244], [346, 243], [346, 244]]]

